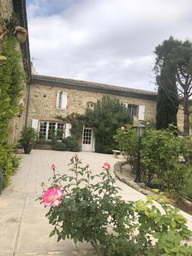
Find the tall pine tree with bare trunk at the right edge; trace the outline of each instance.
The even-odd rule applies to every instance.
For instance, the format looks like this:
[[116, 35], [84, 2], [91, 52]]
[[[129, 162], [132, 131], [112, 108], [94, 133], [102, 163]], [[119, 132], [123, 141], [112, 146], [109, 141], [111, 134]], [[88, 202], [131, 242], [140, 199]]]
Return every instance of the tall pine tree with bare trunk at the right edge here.
[[[189, 98], [192, 96], [192, 42], [188, 39], [181, 41], [170, 37], [156, 47], [155, 53], [157, 58], [154, 69], [157, 75], [164, 76], [158, 81], [158, 86], [164, 91], [164, 95], [172, 101], [173, 106], [179, 108], [178, 103], [182, 105], [183, 131], [184, 134], [189, 134], [189, 115], [192, 113], [189, 110]], [[172, 74], [175, 74], [170, 75], [170, 70], [173, 71]], [[174, 90], [175, 83], [176, 90]]]

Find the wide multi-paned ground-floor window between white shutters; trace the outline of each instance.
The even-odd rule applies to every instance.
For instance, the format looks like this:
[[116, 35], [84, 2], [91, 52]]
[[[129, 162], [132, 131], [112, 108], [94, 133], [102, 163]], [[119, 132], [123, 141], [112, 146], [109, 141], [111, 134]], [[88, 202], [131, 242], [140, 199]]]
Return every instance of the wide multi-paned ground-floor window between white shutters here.
[[39, 137], [51, 140], [52, 135], [56, 134], [58, 140], [63, 138], [64, 123], [40, 121], [39, 125]]

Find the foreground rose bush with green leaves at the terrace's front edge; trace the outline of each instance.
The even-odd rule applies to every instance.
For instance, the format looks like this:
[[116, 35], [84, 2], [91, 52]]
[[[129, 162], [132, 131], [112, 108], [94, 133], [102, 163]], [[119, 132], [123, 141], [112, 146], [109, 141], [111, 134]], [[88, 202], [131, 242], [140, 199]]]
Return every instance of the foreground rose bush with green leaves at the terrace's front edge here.
[[[191, 246], [181, 245], [191, 237], [186, 219], [178, 214], [179, 209], [166, 205], [163, 193], [148, 197], [146, 202], [125, 202], [118, 196], [120, 188], [115, 186], [109, 168], [94, 176], [89, 165], [81, 167], [77, 155], [69, 165], [69, 175], [55, 174], [54, 170], [50, 188], [59, 187], [63, 197], [60, 205], [50, 207], [46, 214], [54, 226], [50, 237], [56, 234], [57, 241], [70, 238], [75, 243], [90, 242], [100, 256], [103, 251], [109, 256], [169, 252], [178, 256], [178, 251], [191, 255]], [[153, 205], [154, 200], [164, 213]], [[156, 238], [155, 247], [152, 238]]]

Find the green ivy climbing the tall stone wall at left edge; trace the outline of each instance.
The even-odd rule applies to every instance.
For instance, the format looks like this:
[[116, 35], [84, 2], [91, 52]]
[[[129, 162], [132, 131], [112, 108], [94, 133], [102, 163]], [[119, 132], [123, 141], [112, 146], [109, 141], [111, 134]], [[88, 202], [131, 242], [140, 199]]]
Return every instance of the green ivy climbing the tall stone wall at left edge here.
[[[18, 106], [25, 89], [26, 73], [22, 67], [22, 54], [17, 50], [17, 40], [10, 33], [4, 40], [2, 54], [6, 57], [0, 66], [0, 100], [10, 99], [9, 108]], [[14, 147], [8, 145], [9, 122], [14, 114], [0, 116], [0, 165], [4, 174], [5, 187], [10, 182], [10, 176], [18, 168], [18, 157], [13, 155]], [[17, 163], [17, 164], [15, 164]]]

